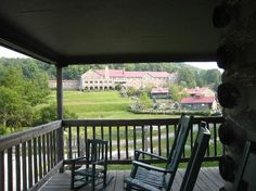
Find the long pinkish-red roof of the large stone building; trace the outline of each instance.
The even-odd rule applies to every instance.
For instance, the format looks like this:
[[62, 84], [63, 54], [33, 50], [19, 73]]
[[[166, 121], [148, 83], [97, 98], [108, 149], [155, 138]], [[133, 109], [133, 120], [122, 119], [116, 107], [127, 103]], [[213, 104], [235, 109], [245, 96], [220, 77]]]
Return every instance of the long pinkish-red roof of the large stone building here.
[[[101, 76], [105, 75], [105, 69], [94, 69]], [[170, 77], [172, 74], [167, 72], [140, 72], [140, 71], [123, 71], [123, 69], [108, 69], [111, 78], [141, 78], [144, 75], [150, 75], [152, 77]]]

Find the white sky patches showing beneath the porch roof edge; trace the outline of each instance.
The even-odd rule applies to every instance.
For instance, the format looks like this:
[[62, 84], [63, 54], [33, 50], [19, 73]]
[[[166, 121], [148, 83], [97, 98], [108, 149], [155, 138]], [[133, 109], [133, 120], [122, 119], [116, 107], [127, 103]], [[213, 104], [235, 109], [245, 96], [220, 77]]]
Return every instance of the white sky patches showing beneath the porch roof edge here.
[[[10, 49], [5, 49], [0, 47], [0, 58], [28, 58], [22, 53], [12, 51]], [[216, 62], [185, 62], [185, 64], [202, 68], [202, 69], [213, 69], [218, 68]]]

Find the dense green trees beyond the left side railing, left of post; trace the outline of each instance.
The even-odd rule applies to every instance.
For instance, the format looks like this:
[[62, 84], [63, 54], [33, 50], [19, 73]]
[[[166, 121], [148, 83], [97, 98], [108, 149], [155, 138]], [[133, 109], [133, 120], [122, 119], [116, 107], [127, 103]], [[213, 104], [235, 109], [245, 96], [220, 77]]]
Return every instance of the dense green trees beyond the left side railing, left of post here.
[[0, 60], [0, 126], [14, 131], [34, 123], [33, 107], [46, 102], [50, 90], [47, 73], [33, 61], [5, 61]]

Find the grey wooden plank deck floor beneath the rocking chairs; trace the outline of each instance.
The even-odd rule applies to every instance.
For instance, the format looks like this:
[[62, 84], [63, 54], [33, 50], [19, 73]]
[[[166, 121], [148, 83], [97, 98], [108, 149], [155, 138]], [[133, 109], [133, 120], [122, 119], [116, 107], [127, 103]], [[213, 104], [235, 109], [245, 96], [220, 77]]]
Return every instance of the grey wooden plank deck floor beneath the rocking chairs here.
[[[129, 176], [128, 170], [112, 170], [114, 179], [105, 189], [106, 191], [121, 191], [124, 189], [124, 178]], [[172, 184], [172, 191], [179, 191], [184, 169], [179, 169]], [[54, 175], [40, 190], [41, 191], [67, 191], [69, 190], [69, 174]], [[194, 191], [218, 191], [223, 186], [217, 167], [202, 168], [194, 187]], [[79, 191], [90, 191], [89, 186], [79, 189]]]

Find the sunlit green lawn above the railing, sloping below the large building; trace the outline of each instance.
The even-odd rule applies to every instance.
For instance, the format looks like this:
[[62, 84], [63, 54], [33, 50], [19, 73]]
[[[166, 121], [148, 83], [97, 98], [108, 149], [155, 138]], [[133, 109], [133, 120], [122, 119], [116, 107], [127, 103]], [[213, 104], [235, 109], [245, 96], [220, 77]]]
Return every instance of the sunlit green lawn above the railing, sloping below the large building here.
[[[55, 91], [49, 97], [49, 102], [55, 101]], [[128, 111], [132, 102], [129, 98], [123, 98], [118, 91], [64, 91], [64, 109], [76, 113], [78, 118], [105, 118], [105, 119], [131, 119], [131, 118], [166, 118], [171, 115], [133, 114]]]

